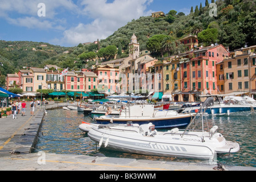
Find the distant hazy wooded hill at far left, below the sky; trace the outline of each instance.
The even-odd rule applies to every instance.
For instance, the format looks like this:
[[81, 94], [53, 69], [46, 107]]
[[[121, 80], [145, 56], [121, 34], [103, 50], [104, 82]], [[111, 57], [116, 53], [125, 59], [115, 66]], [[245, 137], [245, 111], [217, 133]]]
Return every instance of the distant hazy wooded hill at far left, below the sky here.
[[14, 73], [22, 67], [38, 67], [46, 59], [67, 51], [69, 48], [53, 46], [43, 42], [0, 40], [0, 62], [2, 75]]

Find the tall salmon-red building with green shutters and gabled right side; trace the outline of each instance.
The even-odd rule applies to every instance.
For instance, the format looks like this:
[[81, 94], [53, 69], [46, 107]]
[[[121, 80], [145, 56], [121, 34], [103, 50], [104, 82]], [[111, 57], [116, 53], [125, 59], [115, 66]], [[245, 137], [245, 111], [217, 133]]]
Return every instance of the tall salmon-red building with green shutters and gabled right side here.
[[[217, 94], [217, 67], [229, 56], [222, 45], [190, 52], [181, 64], [183, 101], [197, 101], [199, 94]], [[192, 57], [192, 58], [191, 58]]]

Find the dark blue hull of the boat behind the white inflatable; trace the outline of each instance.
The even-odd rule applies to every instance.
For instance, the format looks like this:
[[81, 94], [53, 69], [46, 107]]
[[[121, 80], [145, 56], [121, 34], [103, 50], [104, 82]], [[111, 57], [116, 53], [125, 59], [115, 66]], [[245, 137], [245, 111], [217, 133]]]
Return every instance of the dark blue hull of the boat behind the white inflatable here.
[[[97, 124], [101, 125], [106, 125], [109, 124], [110, 121], [112, 121], [112, 116], [110, 115], [109, 117], [98, 117], [95, 118], [95, 122]], [[191, 121], [191, 115], [190, 114], [185, 114], [183, 116], [179, 117], [162, 117], [162, 118], [113, 118], [113, 123], [117, 124], [123, 124], [127, 122], [133, 122], [138, 125], [143, 125], [147, 123], [153, 123], [155, 125], [155, 128], [158, 129], [171, 129], [174, 127], [178, 127], [179, 129], [185, 128], [187, 125], [189, 125]]]

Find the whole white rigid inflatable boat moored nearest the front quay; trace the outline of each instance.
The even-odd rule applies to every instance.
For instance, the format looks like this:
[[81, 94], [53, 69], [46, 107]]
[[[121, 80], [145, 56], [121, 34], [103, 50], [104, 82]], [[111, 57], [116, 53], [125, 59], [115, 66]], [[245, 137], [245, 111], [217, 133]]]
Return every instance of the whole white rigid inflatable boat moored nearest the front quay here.
[[159, 132], [152, 123], [141, 126], [98, 125], [90, 127], [88, 136], [99, 146], [143, 155], [214, 160], [217, 153], [239, 151], [239, 144], [227, 141], [216, 132], [217, 129], [213, 126], [210, 132], [179, 129]]

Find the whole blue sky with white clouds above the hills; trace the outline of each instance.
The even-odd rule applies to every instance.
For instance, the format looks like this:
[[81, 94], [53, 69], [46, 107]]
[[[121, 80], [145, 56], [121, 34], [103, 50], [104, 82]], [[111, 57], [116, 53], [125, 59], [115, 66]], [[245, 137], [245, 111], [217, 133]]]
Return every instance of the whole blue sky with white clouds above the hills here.
[[[195, 9], [201, 2], [205, 6], [205, 0], [1, 0], [0, 40], [73, 47], [105, 39], [132, 19], [154, 11], [189, 14], [191, 6]], [[45, 16], [38, 16], [38, 11]]]

